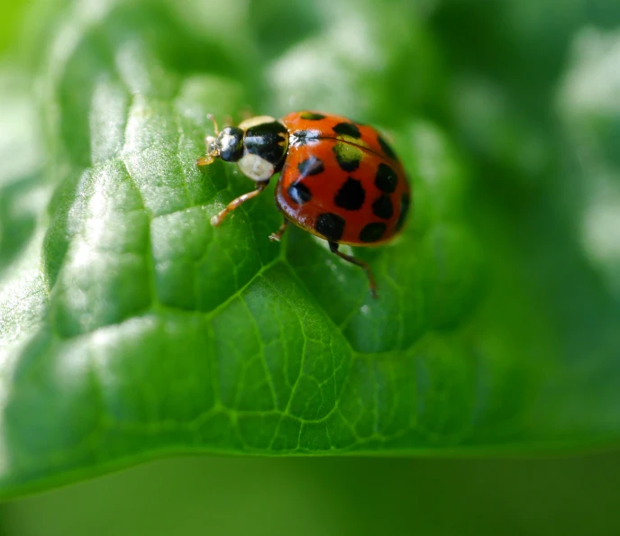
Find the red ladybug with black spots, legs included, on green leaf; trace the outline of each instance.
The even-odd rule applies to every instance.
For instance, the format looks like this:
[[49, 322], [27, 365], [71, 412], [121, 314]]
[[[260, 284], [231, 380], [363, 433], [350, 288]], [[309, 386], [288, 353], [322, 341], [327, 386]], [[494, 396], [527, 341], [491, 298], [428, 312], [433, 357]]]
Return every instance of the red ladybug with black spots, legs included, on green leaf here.
[[370, 292], [377, 297], [369, 264], [342, 253], [340, 244], [375, 246], [401, 230], [410, 202], [409, 183], [396, 153], [374, 128], [345, 117], [316, 112], [294, 112], [279, 121], [267, 115], [206, 137], [206, 156], [236, 162], [256, 189], [232, 200], [214, 215], [226, 214], [260, 194], [269, 179], [280, 173], [276, 204], [284, 222], [269, 236], [279, 241], [288, 223], [326, 240], [341, 259], [366, 271]]

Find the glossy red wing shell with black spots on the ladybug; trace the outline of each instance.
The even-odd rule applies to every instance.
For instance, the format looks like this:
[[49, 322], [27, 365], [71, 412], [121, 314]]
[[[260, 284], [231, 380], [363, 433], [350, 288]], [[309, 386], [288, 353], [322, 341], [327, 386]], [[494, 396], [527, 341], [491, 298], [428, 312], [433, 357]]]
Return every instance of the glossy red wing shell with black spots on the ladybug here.
[[405, 170], [381, 134], [339, 115], [296, 112], [280, 120], [288, 150], [276, 203], [288, 220], [327, 241], [374, 245], [405, 222]]

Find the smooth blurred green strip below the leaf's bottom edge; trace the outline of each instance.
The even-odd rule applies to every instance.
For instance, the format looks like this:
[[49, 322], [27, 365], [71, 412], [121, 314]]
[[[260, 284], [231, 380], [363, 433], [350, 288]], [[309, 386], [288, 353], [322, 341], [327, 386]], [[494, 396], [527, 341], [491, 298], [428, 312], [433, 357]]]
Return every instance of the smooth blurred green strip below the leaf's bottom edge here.
[[5, 535], [615, 535], [619, 458], [170, 459], [3, 506]]

